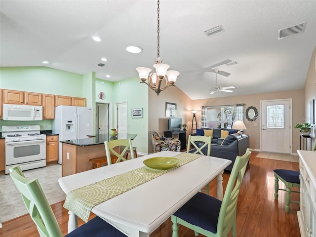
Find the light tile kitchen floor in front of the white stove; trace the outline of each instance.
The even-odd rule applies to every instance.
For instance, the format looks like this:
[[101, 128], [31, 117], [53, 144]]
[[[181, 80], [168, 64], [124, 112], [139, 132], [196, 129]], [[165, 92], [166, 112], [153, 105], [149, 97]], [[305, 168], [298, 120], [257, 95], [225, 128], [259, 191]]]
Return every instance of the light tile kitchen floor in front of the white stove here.
[[[58, 184], [58, 179], [61, 177], [60, 164], [25, 170], [23, 173], [26, 178], [39, 180], [49, 204], [66, 199], [65, 193]], [[22, 197], [15, 188], [10, 175], [0, 175], [0, 222], [3, 223], [27, 213]]]

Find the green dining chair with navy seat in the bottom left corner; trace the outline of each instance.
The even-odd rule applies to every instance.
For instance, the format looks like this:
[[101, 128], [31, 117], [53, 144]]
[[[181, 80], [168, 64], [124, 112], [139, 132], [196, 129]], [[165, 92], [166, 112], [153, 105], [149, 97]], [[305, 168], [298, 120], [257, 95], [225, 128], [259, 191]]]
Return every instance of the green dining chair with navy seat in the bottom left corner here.
[[[9, 168], [10, 176], [21, 193], [28, 212], [36, 224], [40, 237], [62, 237], [56, 217], [45, 197], [37, 179], [25, 178], [21, 168], [16, 165]], [[66, 237], [126, 237], [116, 228], [95, 217], [86, 224], [81, 225]]]

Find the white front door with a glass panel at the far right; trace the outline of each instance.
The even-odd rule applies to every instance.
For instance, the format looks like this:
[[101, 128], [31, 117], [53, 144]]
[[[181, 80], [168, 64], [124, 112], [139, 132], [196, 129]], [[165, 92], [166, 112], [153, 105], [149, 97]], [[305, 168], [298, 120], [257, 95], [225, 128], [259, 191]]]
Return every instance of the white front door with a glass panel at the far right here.
[[261, 150], [290, 154], [291, 99], [260, 101]]

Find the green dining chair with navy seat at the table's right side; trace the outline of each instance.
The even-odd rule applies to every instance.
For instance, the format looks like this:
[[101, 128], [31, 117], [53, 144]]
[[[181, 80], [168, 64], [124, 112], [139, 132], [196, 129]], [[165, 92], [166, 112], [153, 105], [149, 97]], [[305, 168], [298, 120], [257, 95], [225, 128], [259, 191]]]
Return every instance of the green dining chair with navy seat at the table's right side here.
[[232, 230], [232, 237], [236, 237], [238, 194], [250, 154], [247, 149], [236, 157], [223, 201], [199, 192], [171, 216], [172, 237], [179, 236], [178, 224], [193, 230], [196, 236], [226, 237]]

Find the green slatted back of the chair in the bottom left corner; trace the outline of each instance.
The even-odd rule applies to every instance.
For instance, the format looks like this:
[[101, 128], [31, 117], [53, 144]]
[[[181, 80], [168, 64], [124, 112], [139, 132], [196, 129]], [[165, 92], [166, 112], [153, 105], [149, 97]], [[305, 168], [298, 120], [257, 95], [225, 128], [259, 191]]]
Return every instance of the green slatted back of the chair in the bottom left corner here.
[[9, 169], [10, 176], [37, 226], [41, 237], [62, 237], [54, 213], [37, 179], [28, 180], [19, 166]]

